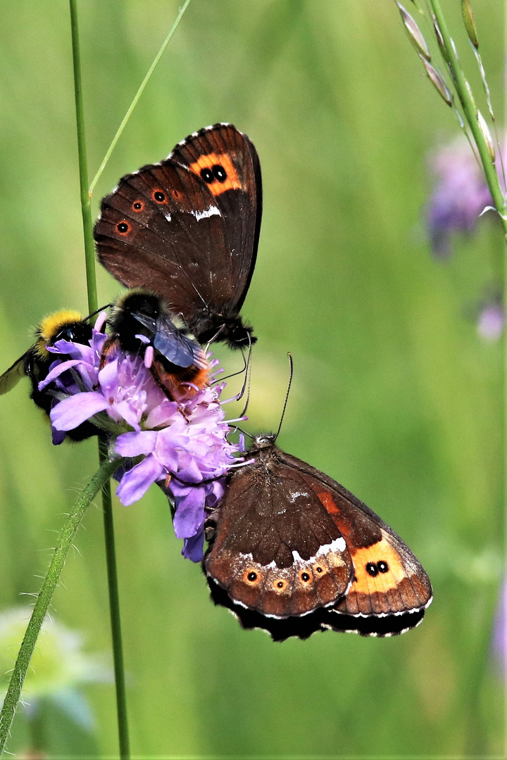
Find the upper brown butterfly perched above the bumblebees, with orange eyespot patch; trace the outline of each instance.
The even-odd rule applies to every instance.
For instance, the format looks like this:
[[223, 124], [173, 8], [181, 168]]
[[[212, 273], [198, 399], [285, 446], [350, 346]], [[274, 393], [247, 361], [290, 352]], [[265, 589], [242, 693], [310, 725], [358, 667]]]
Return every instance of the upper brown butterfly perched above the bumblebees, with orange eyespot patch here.
[[199, 343], [255, 341], [242, 323], [261, 227], [261, 169], [233, 125], [206, 127], [166, 160], [124, 176], [94, 230], [101, 264], [161, 296]]

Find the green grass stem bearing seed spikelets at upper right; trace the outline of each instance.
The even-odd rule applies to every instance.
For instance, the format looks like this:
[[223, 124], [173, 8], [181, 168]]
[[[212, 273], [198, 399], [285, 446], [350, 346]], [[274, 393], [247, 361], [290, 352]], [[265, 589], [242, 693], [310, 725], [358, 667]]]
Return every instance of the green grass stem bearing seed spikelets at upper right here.
[[433, 9], [433, 13], [435, 14], [436, 21], [439, 24], [439, 29], [442, 33], [442, 39], [444, 41], [445, 50], [448, 55], [448, 65], [450, 68], [452, 68], [456, 92], [458, 93], [458, 97], [461, 106], [463, 107], [464, 115], [467, 119], [468, 125], [470, 125], [472, 135], [474, 135], [474, 141], [477, 144], [477, 150], [479, 150], [480, 160], [482, 162], [484, 174], [486, 176], [486, 182], [490, 188], [496, 211], [498, 211], [499, 217], [502, 220], [505, 242], [507, 242], [507, 207], [505, 205], [505, 198], [503, 197], [502, 188], [500, 187], [498, 173], [496, 172], [493, 160], [491, 160], [490, 150], [488, 149], [486, 138], [480, 130], [474, 103], [468, 91], [463, 71], [461, 71], [461, 65], [458, 61], [458, 56], [456, 55], [455, 49], [452, 46], [451, 37], [448, 33], [447, 24], [445, 23], [445, 17], [442, 13], [440, 2], [439, 0], [429, 0], [429, 2]]

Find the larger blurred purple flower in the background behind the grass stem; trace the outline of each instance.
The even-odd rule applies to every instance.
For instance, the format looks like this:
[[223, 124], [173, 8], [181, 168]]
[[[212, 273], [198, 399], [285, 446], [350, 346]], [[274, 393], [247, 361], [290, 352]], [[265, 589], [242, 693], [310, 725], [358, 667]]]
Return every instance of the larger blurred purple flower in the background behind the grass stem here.
[[426, 209], [434, 255], [451, 255], [452, 233], [471, 233], [486, 206], [493, 206], [482, 167], [464, 139], [442, 147], [430, 158], [436, 188]]

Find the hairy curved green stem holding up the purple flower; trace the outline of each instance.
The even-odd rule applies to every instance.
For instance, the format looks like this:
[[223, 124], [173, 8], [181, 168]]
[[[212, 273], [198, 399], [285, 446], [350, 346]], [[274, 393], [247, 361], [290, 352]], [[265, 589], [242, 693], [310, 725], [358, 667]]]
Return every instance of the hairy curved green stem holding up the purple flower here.
[[122, 461], [122, 459], [116, 459], [114, 462], [110, 462], [106, 459], [106, 461], [103, 462], [98, 472], [93, 475], [90, 483], [84, 488], [78, 501], [75, 502], [74, 509], [71, 511], [71, 514], [68, 515], [67, 521], [62, 528], [62, 532], [49, 564], [48, 572], [46, 573], [46, 578], [44, 578], [35, 606], [33, 607], [33, 613], [30, 622], [28, 623], [19, 654], [17, 655], [11, 681], [9, 682], [7, 694], [5, 695], [2, 712], [0, 713], [0, 753], [5, 749], [5, 742], [10, 734], [14, 712], [21, 695], [21, 688], [27, 674], [30, 658], [33, 654], [33, 648], [35, 647], [37, 637], [43, 625], [44, 617], [49, 609], [52, 595], [59, 582], [63, 566], [65, 565], [65, 559], [67, 558], [68, 549], [72, 546], [76, 530], [78, 530], [84, 512], [92, 502], [93, 497], [96, 496], [97, 492], [109, 482], [112, 473], [114, 473], [119, 465], [122, 464]]

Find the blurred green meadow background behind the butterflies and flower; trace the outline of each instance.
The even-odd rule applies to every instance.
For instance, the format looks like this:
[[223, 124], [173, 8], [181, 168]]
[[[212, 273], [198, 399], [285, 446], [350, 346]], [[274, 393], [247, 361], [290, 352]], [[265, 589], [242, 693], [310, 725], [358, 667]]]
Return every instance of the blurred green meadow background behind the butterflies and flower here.
[[[413, 6], [409, 3], [410, 8]], [[477, 3], [502, 111], [503, 3]], [[459, 3], [443, 3], [473, 83]], [[79, 3], [93, 176], [178, 3]], [[2, 364], [43, 315], [87, 312], [66, 2], [2, 4]], [[93, 198], [201, 126], [233, 122], [261, 158], [265, 212], [243, 310], [255, 325], [250, 429], [344, 483], [404, 538], [433, 581], [420, 627], [274, 644], [215, 608], [180, 556], [158, 489], [115, 501], [136, 757], [461, 757], [502, 752], [490, 629], [502, 573], [502, 359], [474, 303], [502, 255], [483, 220], [446, 264], [429, 255], [426, 156], [458, 124], [423, 77], [394, 3], [193, 0]], [[98, 272], [100, 302], [119, 288]], [[227, 367], [238, 358], [217, 350]], [[232, 391], [231, 391], [232, 392]], [[40, 586], [62, 514], [97, 469], [94, 442], [51, 445], [27, 382], [0, 399], [0, 607]], [[232, 411], [232, 410], [231, 410]], [[90, 651], [109, 641], [100, 508], [90, 508], [53, 615]], [[13, 651], [13, 657], [15, 651]], [[64, 727], [51, 756], [114, 756], [111, 683], [87, 686], [97, 727]], [[30, 700], [30, 694], [25, 695]], [[65, 730], [64, 730], [65, 729]], [[8, 749], [29, 746], [17, 715]]]

